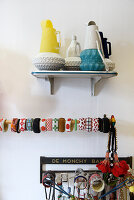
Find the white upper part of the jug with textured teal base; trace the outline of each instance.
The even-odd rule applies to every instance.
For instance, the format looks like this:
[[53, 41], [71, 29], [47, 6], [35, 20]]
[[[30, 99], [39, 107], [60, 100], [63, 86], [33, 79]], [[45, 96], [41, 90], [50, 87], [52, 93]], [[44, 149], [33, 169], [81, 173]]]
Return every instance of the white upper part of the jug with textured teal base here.
[[96, 23], [90, 21], [86, 29], [84, 49], [98, 49], [96, 44], [97, 41], [100, 50], [102, 50], [101, 38]]

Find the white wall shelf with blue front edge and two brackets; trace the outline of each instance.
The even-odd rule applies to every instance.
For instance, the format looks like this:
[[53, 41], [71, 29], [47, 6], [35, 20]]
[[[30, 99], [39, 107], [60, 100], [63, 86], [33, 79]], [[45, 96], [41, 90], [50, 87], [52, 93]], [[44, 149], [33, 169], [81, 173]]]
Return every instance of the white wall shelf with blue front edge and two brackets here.
[[91, 81], [90, 95], [95, 95], [95, 86], [100, 80], [118, 75], [114, 71], [35, 71], [31, 73], [37, 78], [45, 78], [50, 83], [50, 94], [54, 94], [55, 78], [89, 78]]

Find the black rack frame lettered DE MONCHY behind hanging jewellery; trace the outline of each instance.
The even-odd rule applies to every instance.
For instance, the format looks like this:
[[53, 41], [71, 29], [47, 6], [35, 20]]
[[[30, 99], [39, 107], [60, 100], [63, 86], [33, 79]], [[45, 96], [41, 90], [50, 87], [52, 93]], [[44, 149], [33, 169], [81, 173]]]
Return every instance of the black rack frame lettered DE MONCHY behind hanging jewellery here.
[[[43, 174], [46, 172], [43, 170], [43, 165], [46, 164], [64, 164], [64, 165], [87, 165], [87, 164], [92, 164], [92, 165], [96, 165], [99, 162], [101, 162], [102, 160], [104, 160], [104, 157], [40, 157], [40, 183], [42, 183], [42, 177]], [[132, 168], [132, 156], [130, 157], [120, 157], [119, 160], [125, 160], [127, 162], [127, 164], [130, 165], [130, 167]], [[84, 170], [84, 172], [99, 172], [99, 170]], [[52, 170], [53, 173], [74, 173], [75, 171], [73, 170]]]

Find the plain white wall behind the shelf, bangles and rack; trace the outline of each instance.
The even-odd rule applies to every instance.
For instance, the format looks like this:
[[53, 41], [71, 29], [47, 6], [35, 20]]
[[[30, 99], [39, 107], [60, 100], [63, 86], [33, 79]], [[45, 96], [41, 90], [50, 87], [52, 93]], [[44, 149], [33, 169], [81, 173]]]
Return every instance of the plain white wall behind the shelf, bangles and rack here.
[[[89, 80], [57, 79], [50, 96], [44, 80], [30, 74], [40, 48], [43, 19], [62, 33], [63, 49], [76, 34], [82, 47], [85, 24], [95, 20], [112, 42], [117, 78], [89, 96]], [[1, 0], [0, 117], [80, 117], [104, 113], [117, 120], [120, 156], [134, 155], [134, 1]], [[62, 52], [64, 55], [64, 52]], [[107, 135], [0, 134], [0, 199], [42, 200], [40, 156], [104, 156]]]

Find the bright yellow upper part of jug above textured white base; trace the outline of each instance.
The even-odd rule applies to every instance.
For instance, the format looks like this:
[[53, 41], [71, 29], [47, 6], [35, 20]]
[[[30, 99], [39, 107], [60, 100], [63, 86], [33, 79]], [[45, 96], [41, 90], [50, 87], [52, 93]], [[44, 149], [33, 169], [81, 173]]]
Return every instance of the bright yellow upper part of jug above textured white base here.
[[[42, 27], [42, 38], [40, 45], [40, 53], [52, 52], [59, 53], [60, 42], [57, 42], [57, 34], [60, 35], [59, 31], [53, 28], [53, 24], [50, 20], [41, 22]], [[60, 37], [59, 37], [60, 38]]]

